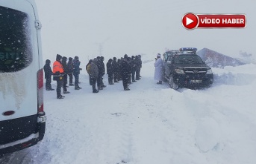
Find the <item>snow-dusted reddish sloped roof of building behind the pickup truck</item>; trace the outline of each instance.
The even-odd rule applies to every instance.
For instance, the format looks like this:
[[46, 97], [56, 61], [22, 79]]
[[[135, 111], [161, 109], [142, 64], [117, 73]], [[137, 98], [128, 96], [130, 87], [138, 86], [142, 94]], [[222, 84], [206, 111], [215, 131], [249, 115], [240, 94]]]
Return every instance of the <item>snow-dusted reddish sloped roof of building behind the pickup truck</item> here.
[[237, 66], [246, 64], [238, 59], [225, 56], [222, 53], [218, 53], [207, 48], [203, 48], [202, 50], [197, 51], [197, 54], [202, 58], [203, 61], [205, 61], [207, 65], [213, 68], [223, 68], [225, 66]]

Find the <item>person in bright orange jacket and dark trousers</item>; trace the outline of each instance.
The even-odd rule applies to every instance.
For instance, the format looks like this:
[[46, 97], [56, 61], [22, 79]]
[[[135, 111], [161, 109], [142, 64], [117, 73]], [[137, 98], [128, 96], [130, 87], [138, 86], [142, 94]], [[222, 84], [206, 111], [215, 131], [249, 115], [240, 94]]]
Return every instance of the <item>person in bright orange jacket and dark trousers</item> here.
[[63, 66], [61, 64], [60, 59], [62, 58], [62, 56], [60, 56], [59, 54], [57, 54], [56, 56], [56, 61], [53, 63], [53, 80], [57, 81], [57, 99], [63, 99], [65, 96], [62, 96], [60, 94], [61, 92], [61, 87], [63, 87]]

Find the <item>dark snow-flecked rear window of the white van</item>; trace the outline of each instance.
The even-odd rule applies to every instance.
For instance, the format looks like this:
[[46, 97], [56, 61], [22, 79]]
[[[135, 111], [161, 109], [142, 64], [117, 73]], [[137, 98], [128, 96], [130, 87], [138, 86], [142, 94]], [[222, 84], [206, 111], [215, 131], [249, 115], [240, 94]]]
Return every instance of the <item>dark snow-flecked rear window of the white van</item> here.
[[0, 73], [22, 70], [32, 62], [28, 15], [0, 6]]

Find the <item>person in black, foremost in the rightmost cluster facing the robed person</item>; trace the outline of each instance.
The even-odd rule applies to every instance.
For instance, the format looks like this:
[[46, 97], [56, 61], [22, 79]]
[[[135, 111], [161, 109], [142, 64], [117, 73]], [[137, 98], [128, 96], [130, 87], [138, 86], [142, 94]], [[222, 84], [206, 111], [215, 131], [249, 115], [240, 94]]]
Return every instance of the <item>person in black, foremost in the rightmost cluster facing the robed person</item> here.
[[124, 59], [121, 60], [121, 75], [122, 75], [122, 85], [125, 91], [129, 91], [128, 81], [129, 73], [131, 71], [131, 65], [128, 64], [128, 56], [125, 54]]

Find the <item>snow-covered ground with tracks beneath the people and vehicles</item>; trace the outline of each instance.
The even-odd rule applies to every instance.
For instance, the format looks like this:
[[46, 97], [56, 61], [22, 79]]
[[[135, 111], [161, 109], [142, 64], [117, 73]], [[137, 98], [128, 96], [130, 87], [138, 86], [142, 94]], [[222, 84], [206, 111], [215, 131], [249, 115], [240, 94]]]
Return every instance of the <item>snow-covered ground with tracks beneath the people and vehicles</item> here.
[[254, 164], [255, 70], [213, 68], [211, 88], [174, 91], [156, 85], [153, 62], [147, 62], [131, 91], [119, 82], [98, 94], [82, 70], [81, 90], [69, 87], [65, 99], [45, 91], [43, 141], [1, 163]]

